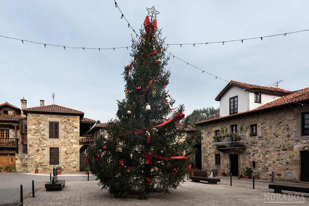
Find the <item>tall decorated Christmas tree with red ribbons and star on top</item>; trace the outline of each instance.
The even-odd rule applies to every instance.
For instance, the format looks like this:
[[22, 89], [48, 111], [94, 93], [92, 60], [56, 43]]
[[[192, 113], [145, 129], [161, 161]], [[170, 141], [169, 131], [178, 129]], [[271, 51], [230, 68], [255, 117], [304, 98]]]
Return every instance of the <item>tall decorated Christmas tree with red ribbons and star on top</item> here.
[[159, 12], [154, 6], [147, 10], [140, 40], [132, 39], [132, 61], [123, 72], [125, 99], [118, 101], [117, 120], [109, 122], [86, 158], [102, 189], [117, 197], [147, 198], [176, 189], [190, 170], [194, 152], [193, 137], [177, 141], [188, 121], [184, 106], [173, 108], [175, 100], [166, 91], [169, 57], [157, 29]]

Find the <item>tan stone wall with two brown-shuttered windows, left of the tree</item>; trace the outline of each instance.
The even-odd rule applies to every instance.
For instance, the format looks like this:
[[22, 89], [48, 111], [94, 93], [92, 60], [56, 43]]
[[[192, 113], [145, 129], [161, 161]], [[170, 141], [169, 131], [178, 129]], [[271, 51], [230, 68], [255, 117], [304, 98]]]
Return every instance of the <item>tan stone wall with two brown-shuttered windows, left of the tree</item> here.
[[[28, 172], [51, 172], [49, 148], [59, 148], [59, 166], [79, 171], [79, 116], [28, 113]], [[59, 139], [49, 138], [49, 122], [59, 122]]]

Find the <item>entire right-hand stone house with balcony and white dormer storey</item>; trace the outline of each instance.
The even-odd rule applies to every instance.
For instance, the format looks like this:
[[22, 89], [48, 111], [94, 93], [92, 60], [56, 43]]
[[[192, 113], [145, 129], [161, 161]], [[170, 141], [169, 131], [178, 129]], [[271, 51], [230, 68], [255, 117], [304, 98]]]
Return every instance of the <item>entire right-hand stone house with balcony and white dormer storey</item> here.
[[232, 81], [201, 122], [202, 169], [309, 182], [309, 88], [287, 91]]

